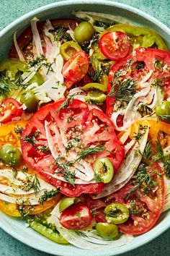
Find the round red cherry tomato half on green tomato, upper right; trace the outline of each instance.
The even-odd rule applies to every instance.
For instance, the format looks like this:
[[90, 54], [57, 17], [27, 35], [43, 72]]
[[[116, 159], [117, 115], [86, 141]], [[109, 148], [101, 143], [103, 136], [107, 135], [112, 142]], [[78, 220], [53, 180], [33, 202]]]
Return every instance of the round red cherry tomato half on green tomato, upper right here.
[[107, 59], [119, 61], [128, 55], [130, 42], [123, 32], [107, 32], [100, 38], [99, 48]]

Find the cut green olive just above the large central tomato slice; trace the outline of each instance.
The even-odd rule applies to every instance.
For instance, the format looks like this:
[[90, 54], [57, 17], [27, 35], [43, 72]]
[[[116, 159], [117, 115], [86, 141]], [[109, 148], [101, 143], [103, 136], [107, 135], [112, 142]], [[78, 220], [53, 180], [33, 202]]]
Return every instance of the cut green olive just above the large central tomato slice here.
[[91, 104], [101, 104], [105, 99], [106, 95], [99, 90], [89, 90], [85, 97], [85, 101]]

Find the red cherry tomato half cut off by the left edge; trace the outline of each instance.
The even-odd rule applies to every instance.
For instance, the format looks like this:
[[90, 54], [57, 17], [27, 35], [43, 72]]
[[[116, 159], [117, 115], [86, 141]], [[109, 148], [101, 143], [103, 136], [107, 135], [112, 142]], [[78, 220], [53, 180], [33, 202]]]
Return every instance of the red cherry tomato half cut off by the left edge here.
[[0, 105], [0, 123], [12, 121], [12, 119], [22, 116], [22, 113], [22, 104], [14, 98], [7, 98]]

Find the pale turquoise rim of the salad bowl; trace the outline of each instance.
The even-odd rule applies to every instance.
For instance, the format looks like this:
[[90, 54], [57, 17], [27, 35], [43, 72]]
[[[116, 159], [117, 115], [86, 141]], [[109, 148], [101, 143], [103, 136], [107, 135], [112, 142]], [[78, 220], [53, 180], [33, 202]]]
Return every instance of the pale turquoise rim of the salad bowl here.
[[[111, 5], [112, 7], [118, 7], [118, 8], [124, 9], [126, 11], [138, 14], [140, 17], [144, 17], [146, 20], [149, 20], [150, 22], [156, 23], [156, 25], [158, 27], [161, 27], [161, 29], [164, 30], [165, 33], [170, 35], [170, 29], [169, 29], [169, 27], [164, 25], [164, 23], [160, 22], [155, 17], [152, 17], [150, 14], [147, 14], [146, 12], [143, 12], [140, 9], [136, 9], [134, 7], [131, 7], [130, 5], [127, 5], [127, 4], [122, 4], [122, 3], [115, 2], [115, 1], [112, 1], [112, 0], [100, 0], [100, 1], [98, 1], [98, 0], [93, 0], [93, 1], [91, 1], [91, 0], [84, 0], [84, 1], [82, 1], [82, 0], [74, 0], [74, 1], [73, 0], [58, 0], [57, 2], [54, 2], [54, 3], [51, 3], [51, 4], [46, 4], [42, 7], [36, 8], [36, 9], [28, 12], [27, 14], [24, 14], [21, 17], [17, 18], [17, 20], [14, 20], [13, 22], [11, 22], [9, 25], [4, 27], [4, 29], [2, 29], [0, 31], [0, 39], [6, 33], [8, 33], [9, 30], [11, 30], [13, 27], [16, 27], [17, 25], [19, 25], [19, 23], [21, 23], [23, 20], [27, 20], [30, 17], [32, 17], [34, 15], [37, 15], [41, 12], [44, 12], [47, 9], [53, 9], [55, 7], [62, 7], [62, 6], [69, 6], [70, 4], [71, 5], [76, 5], [76, 4], [81, 4], [81, 5], [83, 5], [83, 4], [89, 4], [89, 5], [98, 4], [98, 5], [107, 5], [107, 6]], [[170, 220], [170, 216], [169, 216], [169, 220]], [[125, 247], [127, 244], [123, 247], [117, 247], [117, 248], [119, 248], [119, 252], [115, 252], [114, 255], [120, 255], [120, 254], [125, 253], [125, 252], [130, 252], [133, 249], [136, 249], [140, 246], [143, 246], [144, 244], [147, 244], [148, 242], [151, 242], [151, 240], [155, 239], [157, 236], [164, 233], [164, 231], [169, 229], [169, 227], [170, 227], [170, 223], [169, 223], [169, 225], [167, 225], [167, 223], [164, 223], [164, 225], [162, 225], [162, 226], [156, 226], [154, 228], [154, 230], [151, 229], [149, 231], [150, 236], [146, 236], [145, 238], [143, 238], [142, 242], [136, 242], [135, 244], [133, 244], [132, 247], [129, 247], [128, 249]], [[29, 247], [32, 247], [34, 249], [38, 249], [39, 251], [42, 251], [42, 252], [50, 253], [52, 255], [56, 255], [55, 252], [52, 252], [51, 250], [46, 249], [45, 247], [42, 248], [42, 247], [39, 246], [39, 244], [30, 243], [29, 241], [27, 241], [26, 237], [22, 236], [21, 234], [18, 234], [17, 231], [11, 229], [11, 226], [9, 225], [9, 223], [7, 221], [0, 222], [0, 228], [3, 229], [4, 231], [6, 231], [7, 234], [13, 236], [19, 242], [27, 244], [27, 246], [29, 246]], [[156, 231], [155, 229], [158, 229], [158, 231], [155, 232]], [[148, 234], [148, 232], [146, 234]], [[77, 249], [79, 250], [79, 248], [77, 248]], [[89, 250], [89, 252], [90, 251], [91, 250]], [[85, 252], [85, 250], [84, 250], [84, 252]], [[107, 256], [111, 255], [111, 254], [107, 254], [107, 253], [108, 252], [106, 252]], [[84, 256], [84, 255], [86, 255], [86, 253], [85, 254], [82, 253], [81, 255]], [[62, 256], [71, 256], [71, 255], [70, 255], [70, 252], [64, 252], [62, 254]]]

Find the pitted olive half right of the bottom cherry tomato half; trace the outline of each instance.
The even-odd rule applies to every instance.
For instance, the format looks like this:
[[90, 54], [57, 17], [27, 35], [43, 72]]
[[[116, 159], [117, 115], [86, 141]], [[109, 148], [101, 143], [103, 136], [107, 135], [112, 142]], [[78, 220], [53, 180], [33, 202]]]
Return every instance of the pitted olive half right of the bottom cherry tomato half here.
[[121, 203], [112, 203], [104, 209], [105, 218], [108, 223], [120, 224], [128, 221], [129, 210]]

